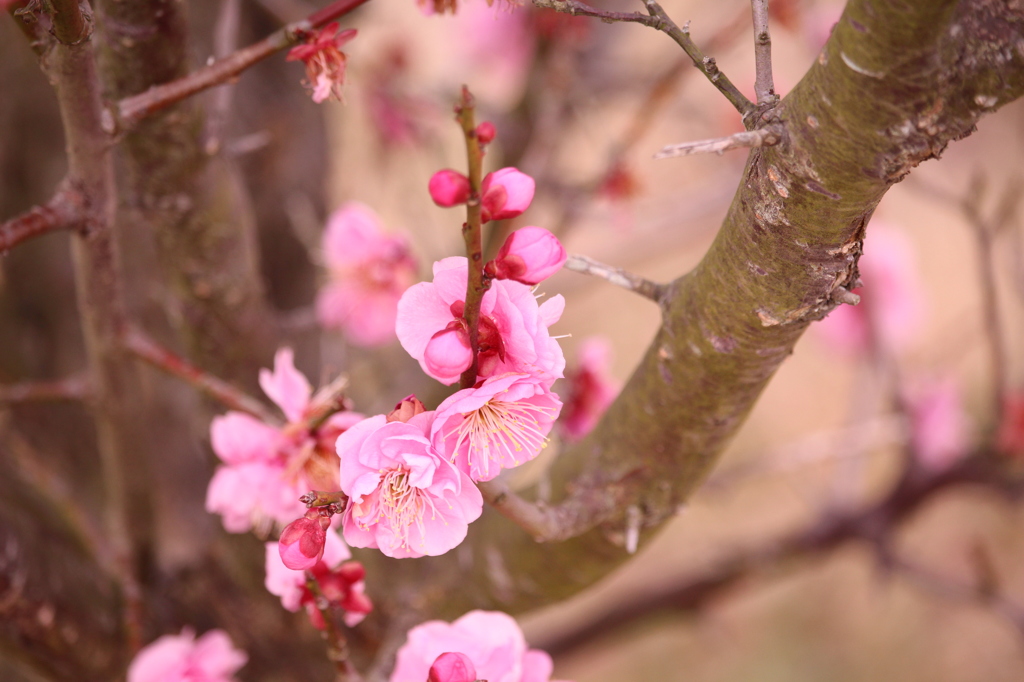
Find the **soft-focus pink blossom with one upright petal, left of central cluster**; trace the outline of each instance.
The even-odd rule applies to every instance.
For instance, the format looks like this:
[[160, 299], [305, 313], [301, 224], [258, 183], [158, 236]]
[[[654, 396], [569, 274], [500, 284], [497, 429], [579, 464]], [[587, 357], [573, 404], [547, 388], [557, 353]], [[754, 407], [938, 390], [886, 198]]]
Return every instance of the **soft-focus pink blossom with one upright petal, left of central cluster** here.
[[206, 509], [220, 514], [229, 532], [245, 532], [267, 522], [288, 523], [302, 516], [299, 497], [310, 488], [338, 486], [334, 441], [361, 415], [340, 412], [315, 430], [304, 423], [318, 396], [295, 369], [292, 350], [282, 348], [274, 370], [263, 370], [260, 386], [288, 419], [284, 427], [270, 426], [240, 412], [215, 417], [210, 425], [213, 452], [221, 466], [210, 481]]

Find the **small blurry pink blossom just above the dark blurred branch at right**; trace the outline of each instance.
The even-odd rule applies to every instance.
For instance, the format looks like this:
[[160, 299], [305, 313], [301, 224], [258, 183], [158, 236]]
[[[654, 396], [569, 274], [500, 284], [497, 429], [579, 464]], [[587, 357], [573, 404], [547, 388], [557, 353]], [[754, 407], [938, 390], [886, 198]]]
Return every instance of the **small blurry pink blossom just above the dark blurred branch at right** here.
[[969, 421], [954, 382], [923, 385], [908, 404], [910, 446], [922, 467], [932, 472], [943, 471], [967, 454]]

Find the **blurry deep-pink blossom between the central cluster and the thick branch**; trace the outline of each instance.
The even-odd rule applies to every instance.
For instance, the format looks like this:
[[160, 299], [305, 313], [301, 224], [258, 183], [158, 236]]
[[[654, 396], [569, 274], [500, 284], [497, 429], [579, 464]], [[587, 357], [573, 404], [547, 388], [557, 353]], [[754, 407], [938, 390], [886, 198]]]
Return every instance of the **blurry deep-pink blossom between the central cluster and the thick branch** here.
[[565, 373], [568, 397], [558, 423], [569, 440], [579, 440], [590, 433], [618, 395], [621, 386], [608, 373], [610, 355], [606, 339], [585, 339], [580, 344], [575, 367]]

